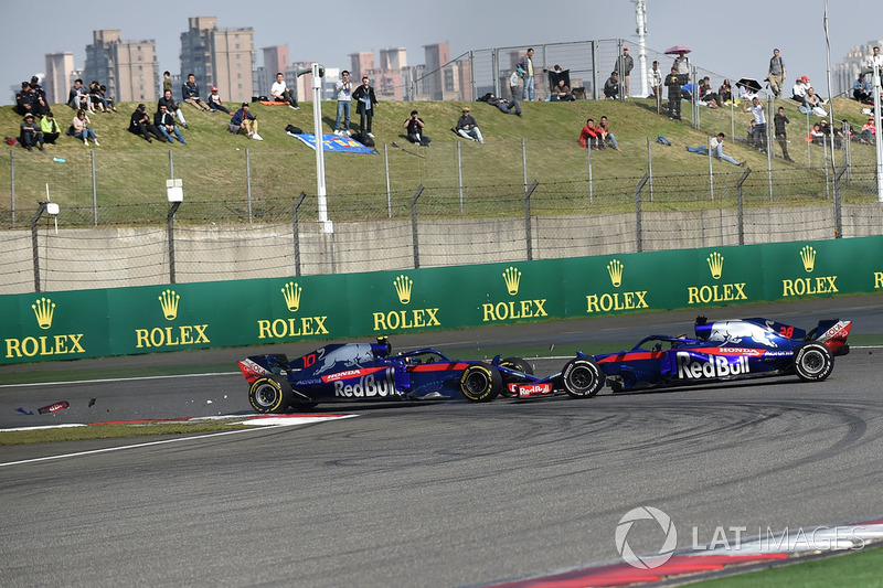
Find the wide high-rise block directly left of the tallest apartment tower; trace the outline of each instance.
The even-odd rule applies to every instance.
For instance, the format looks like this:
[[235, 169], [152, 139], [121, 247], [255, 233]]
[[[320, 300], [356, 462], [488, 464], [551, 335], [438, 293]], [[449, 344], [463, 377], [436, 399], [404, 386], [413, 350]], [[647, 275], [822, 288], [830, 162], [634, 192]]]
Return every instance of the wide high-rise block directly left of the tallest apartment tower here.
[[159, 63], [155, 40], [123, 41], [117, 29], [93, 31], [92, 38], [93, 43], [86, 45], [85, 85], [98, 81], [117, 101], [157, 99]]

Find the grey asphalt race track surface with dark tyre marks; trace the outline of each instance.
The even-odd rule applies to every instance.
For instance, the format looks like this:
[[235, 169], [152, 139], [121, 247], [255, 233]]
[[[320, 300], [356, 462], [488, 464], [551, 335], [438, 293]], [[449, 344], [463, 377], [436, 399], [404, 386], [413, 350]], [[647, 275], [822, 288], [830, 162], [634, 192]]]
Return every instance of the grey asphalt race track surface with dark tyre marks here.
[[[394, 343], [456, 351], [620, 341], [689, 331], [693, 314]], [[764, 316], [806, 328], [839, 317], [854, 321], [853, 335], [883, 333], [880, 296], [709, 316]], [[294, 355], [299, 348], [291, 348]], [[853, 350], [816, 384], [786, 377], [616, 396], [605, 389], [587, 400], [325, 405], [319, 410], [358, 416], [168, 443], [0, 447], [0, 584], [474, 586], [618, 562], [617, 523], [641, 505], [671, 516], [679, 547], [689, 547], [694, 534], [711, 542], [716, 527], [756, 535], [880, 518], [881, 353]], [[242, 354], [77, 364], [226, 355], [233, 362]], [[545, 373], [563, 362], [535, 363]], [[64, 367], [71, 365], [30, 368]], [[15, 411], [60, 399], [71, 409]], [[241, 375], [0, 388], [2, 427], [219, 413], [249, 413]], [[659, 527], [637, 531], [629, 534], [636, 553], [659, 548]]]

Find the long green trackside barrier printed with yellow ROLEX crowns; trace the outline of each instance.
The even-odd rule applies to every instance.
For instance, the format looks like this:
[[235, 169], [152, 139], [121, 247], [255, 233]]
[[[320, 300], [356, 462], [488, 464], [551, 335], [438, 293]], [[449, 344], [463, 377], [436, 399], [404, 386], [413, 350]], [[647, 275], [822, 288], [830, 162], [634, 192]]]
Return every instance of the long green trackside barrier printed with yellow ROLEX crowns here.
[[883, 237], [0, 296], [0, 364], [883, 291]]

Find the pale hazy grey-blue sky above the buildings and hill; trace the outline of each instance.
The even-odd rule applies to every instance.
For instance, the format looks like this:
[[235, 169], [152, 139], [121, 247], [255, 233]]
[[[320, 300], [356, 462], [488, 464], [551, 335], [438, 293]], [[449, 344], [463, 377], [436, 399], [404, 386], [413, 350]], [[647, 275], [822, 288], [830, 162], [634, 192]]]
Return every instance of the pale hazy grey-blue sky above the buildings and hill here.
[[[92, 31], [119, 29], [126, 41], [153, 39], [160, 71], [179, 73], [180, 36], [190, 17], [217, 17], [221, 29], [252, 26], [260, 47], [288, 44], [292, 61], [349, 67], [359, 51], [404, 46], [408, 63], [424, 62], [423, 45], [447, 41], [451, 57], [468, 50], [623, 38], [636, 39], [630, 0], [331, 0], [243, 2], [227, 0], [43, 0], [24, 15], [24, 4], [0, 0], [7, 22], [0, 35], [0, 103], [13, 84], [45, 70], [44, 55], [72, 51], [82, 68]], [[831, 65], [855, 45], [883, 38], [879, 1], [829, 2]], [[827, 95], [823, 0], [709, 2], [647, 0], [647, 46], [681, 44], [691, 61], [726, 77], [763, 79], [773, 47], [781, 50], [786, 84], [807, 75]], [[632, 55], [636, 52], [632, 50]], [[637, 62], [637, 60], [636, 60]], [[634, 75], [634, 74], [632, 74]], [[632, 77], [634, 79], [634, 77]], [[632, 85], [635, 82], [632, 82]], [[714, 79], [712, 84], [720, 84]]]

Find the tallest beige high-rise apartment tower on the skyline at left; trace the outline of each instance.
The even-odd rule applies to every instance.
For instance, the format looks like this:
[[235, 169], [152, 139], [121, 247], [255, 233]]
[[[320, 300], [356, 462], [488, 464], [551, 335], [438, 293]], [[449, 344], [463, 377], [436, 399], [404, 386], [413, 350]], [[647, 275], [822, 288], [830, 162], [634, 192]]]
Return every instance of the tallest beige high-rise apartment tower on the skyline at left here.
[[[251, 26], [219, 29], [216, 17], [191, 17], [181, 33], [181, 77], [193, 74], [203, 98], [217, 86], [222, 100], [249, 101], [256, 89], [255, 58]], [[174, 96], [180, 99], [180, 89]]]

